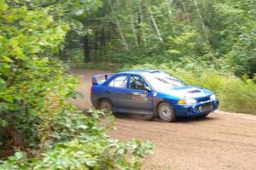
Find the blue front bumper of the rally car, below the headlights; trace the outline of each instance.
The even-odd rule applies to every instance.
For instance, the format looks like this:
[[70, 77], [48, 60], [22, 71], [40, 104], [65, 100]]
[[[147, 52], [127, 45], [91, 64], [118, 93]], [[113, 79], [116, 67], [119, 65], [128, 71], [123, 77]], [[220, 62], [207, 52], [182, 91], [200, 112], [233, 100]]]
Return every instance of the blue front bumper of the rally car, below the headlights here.
[[[205, 109], [204, 109], [205, 108]], [[218, 109], [218, 99], [191, 105], [173, 105], [176, 116], [200, 116]]]

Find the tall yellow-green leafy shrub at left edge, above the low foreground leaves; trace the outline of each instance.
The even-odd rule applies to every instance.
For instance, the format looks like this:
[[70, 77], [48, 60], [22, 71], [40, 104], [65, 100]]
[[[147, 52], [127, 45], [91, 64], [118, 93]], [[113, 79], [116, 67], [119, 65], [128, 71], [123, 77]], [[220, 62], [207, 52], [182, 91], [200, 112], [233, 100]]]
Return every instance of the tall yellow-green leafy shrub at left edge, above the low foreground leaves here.
[[51, 58], [68, 26], [56, 23], [47, 9], [11, 8], [3, 1], [0, 7], [1, 148], [36, 148], [38, 123], [61, 112], [78, 84]]

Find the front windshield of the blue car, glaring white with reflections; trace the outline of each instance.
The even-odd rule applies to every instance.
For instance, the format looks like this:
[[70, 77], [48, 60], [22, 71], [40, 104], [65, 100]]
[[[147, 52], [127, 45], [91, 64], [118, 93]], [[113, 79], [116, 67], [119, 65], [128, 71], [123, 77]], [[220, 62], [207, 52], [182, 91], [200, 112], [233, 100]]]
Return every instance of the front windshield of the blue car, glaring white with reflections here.
[[171, 88], [179, 88], [187, 85], [179, 78], [167, 74], [166, 72], [147, 72], [143, 73], [143, 76], [149, 82], [152, 88], [158, 91], [164, 91]]

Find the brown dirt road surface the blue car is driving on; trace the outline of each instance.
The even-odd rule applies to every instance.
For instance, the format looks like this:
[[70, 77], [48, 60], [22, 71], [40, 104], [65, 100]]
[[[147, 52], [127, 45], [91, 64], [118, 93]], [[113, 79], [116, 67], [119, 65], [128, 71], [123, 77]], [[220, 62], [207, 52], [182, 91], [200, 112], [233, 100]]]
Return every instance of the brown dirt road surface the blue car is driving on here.
[[[84, 99], [73, 101], [81, 110], [91, 108], [91, 76], [102, 70], [74, 69]], [[254, 170], [256, 169], [256, 116], [215, 111], [206, 118], [173, 123], [145, 121], [140, 116], [117, 115], [111, 137], [122, 140], [149, 139], [154, 154], [146, 157], [143, 169]]]

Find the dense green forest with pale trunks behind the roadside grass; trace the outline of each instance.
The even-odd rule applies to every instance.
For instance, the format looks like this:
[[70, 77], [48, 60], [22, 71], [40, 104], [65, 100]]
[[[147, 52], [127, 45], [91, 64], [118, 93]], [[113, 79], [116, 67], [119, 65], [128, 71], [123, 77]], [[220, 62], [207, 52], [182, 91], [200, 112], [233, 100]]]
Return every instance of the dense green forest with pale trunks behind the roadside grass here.
[[[213, 65], [253, 78], [255, 8], [255, 1], [241, 0], [102, 1], [102, 8], [83, 24], [90, 27], [90, 45], [84, 51], [96, 63]], [[82, 49], [81, 36], [68, 39], [77, 40]], [[68, 49], [70, 53], [73, 48]], [[73, 55], [69, 59], [84, 58], [77, 48]]]

